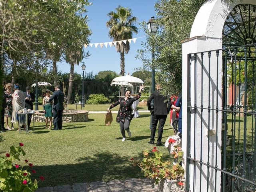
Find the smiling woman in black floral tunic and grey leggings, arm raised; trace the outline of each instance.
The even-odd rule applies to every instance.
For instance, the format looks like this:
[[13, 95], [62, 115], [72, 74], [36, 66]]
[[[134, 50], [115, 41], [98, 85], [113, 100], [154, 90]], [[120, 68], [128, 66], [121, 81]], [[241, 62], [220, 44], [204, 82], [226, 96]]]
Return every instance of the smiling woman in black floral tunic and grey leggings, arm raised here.
[[109, 108], [107, 108], [107, 112], [109, 112], [110, 109], [120, 104], [120, 108], [116, 116], [116, 122], [120, 124], [120, 131], [123, 136], [122, 142], [126, 140], [125, 131], [128, 133], [129, 137], [132, 136], [132, 133], [130, 132], [130, 129], [129, 129], [130, 122], [134, 116], [134, 114], [132, 114], [132, 103], [140, 98], [141, 90], [143, 88], [144, 86], [140, 86], [138, 95], [133, 98], [130, 98], [131, 91], [126, 90], [124, 98], [120, 98], [117, 102], [115, 102]]

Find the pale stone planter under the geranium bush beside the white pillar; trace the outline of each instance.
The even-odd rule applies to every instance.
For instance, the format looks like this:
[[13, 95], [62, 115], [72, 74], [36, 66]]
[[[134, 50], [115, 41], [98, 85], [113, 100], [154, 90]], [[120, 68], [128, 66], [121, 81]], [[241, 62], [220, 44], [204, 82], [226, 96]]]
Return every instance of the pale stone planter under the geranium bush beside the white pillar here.
[[158, 190], [158, 192], [186, 192], [185, 190], [185, 180], [181, 180], [184, 183], [183, 186], [178, 184], [179, 180], [167, 180], [161, 179], [158, 184], [153, 184], [154, 188]]

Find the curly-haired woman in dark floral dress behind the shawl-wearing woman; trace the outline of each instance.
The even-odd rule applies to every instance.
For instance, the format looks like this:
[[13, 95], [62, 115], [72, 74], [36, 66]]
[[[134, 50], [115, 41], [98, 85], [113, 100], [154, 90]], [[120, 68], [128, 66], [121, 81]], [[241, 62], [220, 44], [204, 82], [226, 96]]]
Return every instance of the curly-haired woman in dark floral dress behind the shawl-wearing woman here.
[[[12, 119], [12, 94], [13, 94], [12, 84], [10, 83], [6, 84], [5, 89], [6, 91], [4, 92], [4, 94], [6, 94], [6, 104], [7, 104], [7, 107], [5, 109], [5, 123], [6, 123], [6, 129], [11, 130], [8, 124], [8, 117]], [[12, 129], [14, 129], [13, 123], [12, 123]]]

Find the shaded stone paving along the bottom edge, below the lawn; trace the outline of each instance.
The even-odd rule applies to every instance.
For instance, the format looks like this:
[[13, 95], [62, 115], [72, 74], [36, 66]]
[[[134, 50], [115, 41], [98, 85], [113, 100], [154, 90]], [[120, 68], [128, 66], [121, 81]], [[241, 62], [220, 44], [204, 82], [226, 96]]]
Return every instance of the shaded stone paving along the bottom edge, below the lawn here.
[[148, 179], [112, 180], [38, 188], [36, 192], [157, 192]]

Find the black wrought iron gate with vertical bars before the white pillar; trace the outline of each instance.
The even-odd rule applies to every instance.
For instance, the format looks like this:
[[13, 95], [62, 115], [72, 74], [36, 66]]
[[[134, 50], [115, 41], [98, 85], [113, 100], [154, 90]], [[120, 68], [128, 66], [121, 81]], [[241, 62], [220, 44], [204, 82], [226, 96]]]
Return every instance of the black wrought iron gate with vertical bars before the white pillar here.
[[222, 192], [255, 191], [256, 44], [189, 54], [188, 74], [186, 189], [203, 191], [205, 179], [207, 191], [216, 191], [218, 180]]

